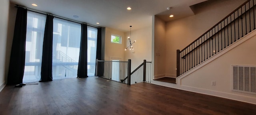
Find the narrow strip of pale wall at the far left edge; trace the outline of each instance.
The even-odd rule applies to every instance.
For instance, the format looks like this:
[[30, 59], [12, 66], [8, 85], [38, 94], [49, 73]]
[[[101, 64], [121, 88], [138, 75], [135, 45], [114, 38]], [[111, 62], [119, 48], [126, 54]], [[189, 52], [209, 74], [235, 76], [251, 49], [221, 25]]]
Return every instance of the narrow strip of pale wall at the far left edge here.
[[0, 91], [6, 84], [6, 41], [8, 36], [9, 0], [0, 4]]

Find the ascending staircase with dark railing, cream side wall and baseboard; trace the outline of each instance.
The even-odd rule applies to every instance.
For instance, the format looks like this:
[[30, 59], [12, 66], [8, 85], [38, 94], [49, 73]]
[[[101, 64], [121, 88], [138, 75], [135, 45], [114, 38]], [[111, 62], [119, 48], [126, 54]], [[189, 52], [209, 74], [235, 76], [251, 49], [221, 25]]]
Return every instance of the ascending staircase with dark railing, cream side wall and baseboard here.
[[[225, 5], [222, 4], [222, 6]], [[184, 49], [177, 50], [176, 84], [156, 80], [152, 80], [151, 83], [256, 104], [255, 94], [240, 89], [240, 91], [234, 91], [233, 87], [248, 85], [250, 86], [248, 89], [251, 90], [256, 88], [255, 82], [247, 82], [248, 75], [242, 69], [239, 69], [241, 71], [238, 73], [247, 76], [246, 79], [238, 77], [236, 80], [232, 76], [234, 73], [232, 65], [256, 65], [255, 7], [256, 0], [246, 0], [202, 36]], [[252, 75], [249, 76], [252, 79], [250, 81], [254, 81], [255, 72], [252, 70], [250, 72], [253, 74], [250, 73]], [[247, 90], [247, 88], [244, 89]]]

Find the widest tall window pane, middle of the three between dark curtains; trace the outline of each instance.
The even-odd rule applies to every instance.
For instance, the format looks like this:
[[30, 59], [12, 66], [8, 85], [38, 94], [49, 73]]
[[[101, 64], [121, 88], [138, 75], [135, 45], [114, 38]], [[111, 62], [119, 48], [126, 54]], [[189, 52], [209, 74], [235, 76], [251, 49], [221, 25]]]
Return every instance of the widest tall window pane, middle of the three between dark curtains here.
[[53, 79], [77, 77], [81, 24], [54, 18], [53, 29]]

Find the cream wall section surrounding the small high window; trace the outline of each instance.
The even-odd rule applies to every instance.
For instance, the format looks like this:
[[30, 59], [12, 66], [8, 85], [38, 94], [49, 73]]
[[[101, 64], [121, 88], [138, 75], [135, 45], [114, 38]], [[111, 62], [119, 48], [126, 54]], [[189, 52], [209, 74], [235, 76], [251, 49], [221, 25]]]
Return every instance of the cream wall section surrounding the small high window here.
[[[111, 61], [111, 58], [121, 58], [124, 60], [124, 47], [125, 47], [125, 37], [124, 32], [114, 30], [112, 28], [106, 28], [105, 31], [105, 61]], [[111, 34], [119, 35], [122, 37], [122, 44], [111, 43]]]

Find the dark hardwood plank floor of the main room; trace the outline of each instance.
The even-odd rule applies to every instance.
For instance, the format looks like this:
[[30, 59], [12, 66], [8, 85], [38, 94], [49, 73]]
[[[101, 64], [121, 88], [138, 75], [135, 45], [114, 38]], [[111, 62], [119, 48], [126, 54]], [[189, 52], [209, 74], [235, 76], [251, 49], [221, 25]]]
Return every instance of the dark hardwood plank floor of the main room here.
[[0, 92], [0, 115], [256, 115], [256, 105], [150, 83], [100, 77], [54, 80]]

